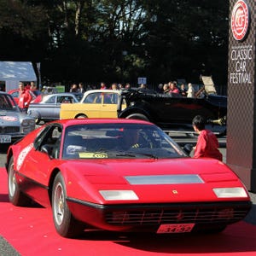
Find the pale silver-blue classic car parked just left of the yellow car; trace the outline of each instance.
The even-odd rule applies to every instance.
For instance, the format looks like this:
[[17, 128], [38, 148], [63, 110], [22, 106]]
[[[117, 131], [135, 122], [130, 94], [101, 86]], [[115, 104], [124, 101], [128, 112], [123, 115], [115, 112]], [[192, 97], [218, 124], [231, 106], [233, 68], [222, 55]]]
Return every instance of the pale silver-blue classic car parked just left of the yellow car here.
[[56, 93], [44, 96], [38, 103], [29, 105], [27, 113], [39, 124], [41, 121], [48, 122], [60, 119], [60, 110], [62, 103], [78, 103], [79, 100], [73, 93]]

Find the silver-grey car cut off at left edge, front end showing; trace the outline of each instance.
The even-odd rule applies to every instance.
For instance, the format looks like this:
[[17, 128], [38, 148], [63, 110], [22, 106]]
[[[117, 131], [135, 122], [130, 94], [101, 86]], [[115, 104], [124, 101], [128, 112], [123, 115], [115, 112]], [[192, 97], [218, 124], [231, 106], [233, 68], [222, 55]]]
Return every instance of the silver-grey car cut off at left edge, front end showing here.
[[35, 129], [35, 120], [21, 113], [14, 98], [0, 92], [0, 144], [14, 143]]

